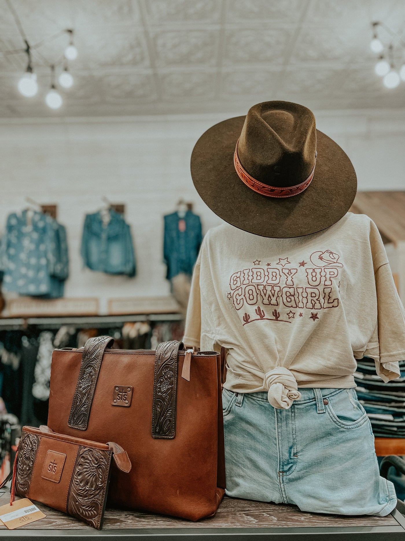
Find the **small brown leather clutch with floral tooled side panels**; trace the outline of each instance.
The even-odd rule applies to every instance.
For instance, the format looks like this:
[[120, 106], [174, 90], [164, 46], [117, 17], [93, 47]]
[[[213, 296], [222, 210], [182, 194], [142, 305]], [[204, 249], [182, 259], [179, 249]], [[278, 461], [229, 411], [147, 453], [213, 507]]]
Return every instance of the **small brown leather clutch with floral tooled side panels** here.
[[129, 473], [131, 462], [118, 444], [97, 443], [24, 426], [11, 484], [11, 501], [30, 498], [68, 513], [100, 530], [111, 473], [111, 458]]

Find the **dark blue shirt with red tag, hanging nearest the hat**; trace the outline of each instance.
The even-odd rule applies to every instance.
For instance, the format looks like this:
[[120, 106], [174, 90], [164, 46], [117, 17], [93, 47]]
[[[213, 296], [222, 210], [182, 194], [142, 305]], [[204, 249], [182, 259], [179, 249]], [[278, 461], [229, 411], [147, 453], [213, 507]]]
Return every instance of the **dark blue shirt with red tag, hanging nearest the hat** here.
[[166, 278], [171, 280], [180, 273], [191, 275], [203, 240], [200, 217], [188, 210], [183, 218], [174, 212], [167, 214], [164, 220]]

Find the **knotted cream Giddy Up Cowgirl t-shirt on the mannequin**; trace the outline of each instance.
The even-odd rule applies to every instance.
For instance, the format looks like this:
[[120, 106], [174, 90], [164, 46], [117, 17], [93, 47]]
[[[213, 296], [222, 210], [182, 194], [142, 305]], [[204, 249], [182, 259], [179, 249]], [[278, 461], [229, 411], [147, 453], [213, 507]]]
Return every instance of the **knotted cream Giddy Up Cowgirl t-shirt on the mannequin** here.
[[355, 359], [384, 381], [405, 359], [405, 313], [381, 236], [365, 215], [294, 239], [211, 229], [194, 268], [184, 343], [226, 349], [224, 387], [267, 391], [274, 407], [298, 387], [355, 387]]

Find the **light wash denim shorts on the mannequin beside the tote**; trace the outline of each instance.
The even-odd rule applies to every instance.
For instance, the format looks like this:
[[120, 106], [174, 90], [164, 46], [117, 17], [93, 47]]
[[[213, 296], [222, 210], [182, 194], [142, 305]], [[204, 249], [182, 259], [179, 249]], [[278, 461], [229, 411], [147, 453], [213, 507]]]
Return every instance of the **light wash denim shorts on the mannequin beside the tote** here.
[[224, 389], [226, 493], [301, 511], [381, 517], [396, 506], [354, 389], [300, 388], [288, 410]]

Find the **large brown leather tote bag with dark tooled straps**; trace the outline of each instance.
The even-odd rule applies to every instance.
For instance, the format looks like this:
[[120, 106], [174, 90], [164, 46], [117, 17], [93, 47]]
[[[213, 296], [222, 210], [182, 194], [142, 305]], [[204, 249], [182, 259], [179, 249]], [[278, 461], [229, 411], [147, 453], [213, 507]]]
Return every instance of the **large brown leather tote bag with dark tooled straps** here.
[[112, 344], [97, 337], [53, 352], [48, 426], [125, 448], [132, 470], [111, 480], [111, 505], [213, 515], [225, 489], [220, 355], [177, 341], [156, 352]]

